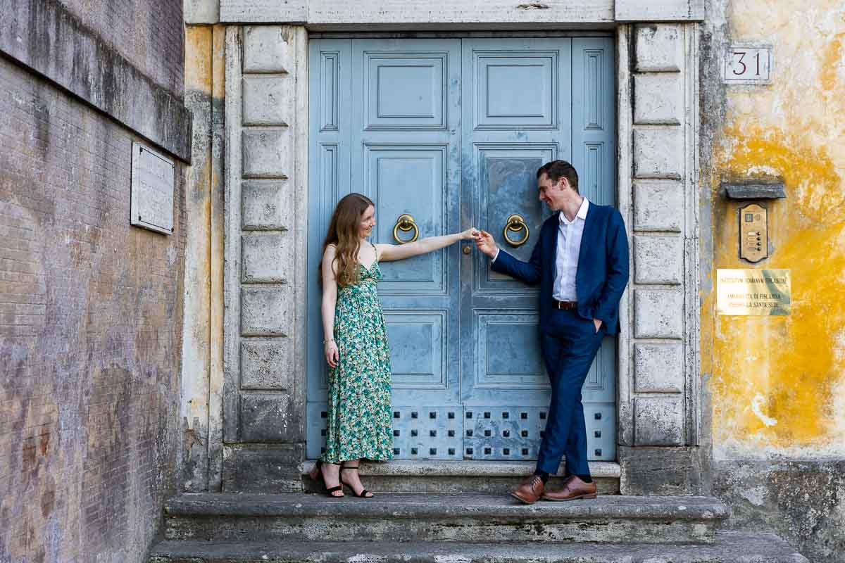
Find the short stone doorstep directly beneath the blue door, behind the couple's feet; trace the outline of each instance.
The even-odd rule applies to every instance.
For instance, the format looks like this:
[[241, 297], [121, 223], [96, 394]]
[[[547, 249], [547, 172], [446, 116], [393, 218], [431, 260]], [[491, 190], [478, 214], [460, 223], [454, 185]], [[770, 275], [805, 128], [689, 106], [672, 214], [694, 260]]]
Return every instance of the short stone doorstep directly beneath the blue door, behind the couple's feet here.
[[[488, 493], [505, 495], [515, 489], [526, 475], [534, 472], [536, 462], [477, 461], [392, 461], [361, 464], [361, 481], [369, 489], [384, 493]], [[313, 461], [303, 464], [306, 492], [319, 493], [321, 481], [308, 474]], [[591, 462], [590, 473], [600, 495], [619, 494], [619, 463]], [[553, 477], [550, 486], [559, 488], [562, 479]]]

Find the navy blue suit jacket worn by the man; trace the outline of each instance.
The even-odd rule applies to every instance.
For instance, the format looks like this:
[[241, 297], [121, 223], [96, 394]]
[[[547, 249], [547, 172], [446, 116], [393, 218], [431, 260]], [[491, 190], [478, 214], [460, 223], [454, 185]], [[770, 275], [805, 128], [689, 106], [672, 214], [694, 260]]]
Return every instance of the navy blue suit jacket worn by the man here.
[[[506, 273], [526, 284], [540, 284], [540, 330], [548, 324], [553, 306], [554, 263], [558, 254], [560, 212], [546, 219], [531, 259], [522, 262], [499, 250], [494, 272]], [[578, 314], [601, 319], [608, 334], [619, 332], [619, 300], [628, 284], [628, 235], [616, 208], [590, 202], [581, 236], [575, 293]]]

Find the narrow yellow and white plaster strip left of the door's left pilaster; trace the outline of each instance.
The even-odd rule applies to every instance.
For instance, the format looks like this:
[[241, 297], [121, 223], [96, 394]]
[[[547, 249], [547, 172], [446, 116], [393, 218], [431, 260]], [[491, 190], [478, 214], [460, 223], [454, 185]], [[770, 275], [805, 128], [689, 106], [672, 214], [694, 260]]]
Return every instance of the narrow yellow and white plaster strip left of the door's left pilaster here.
[[223, 177], [225, 27], [185, 28], [185, 104], [194, 115], [188, 174], [182, 416], [186, 490], [220, 479], [223, 349]]

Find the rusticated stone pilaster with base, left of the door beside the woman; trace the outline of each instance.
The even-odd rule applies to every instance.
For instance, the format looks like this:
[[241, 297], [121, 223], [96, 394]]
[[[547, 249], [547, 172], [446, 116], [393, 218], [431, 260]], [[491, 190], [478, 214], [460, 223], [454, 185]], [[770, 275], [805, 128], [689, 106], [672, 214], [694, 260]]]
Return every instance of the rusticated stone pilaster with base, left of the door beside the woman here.
[[223, 489], [299, 490], [307, 41], [297, 26], [226, 33]]

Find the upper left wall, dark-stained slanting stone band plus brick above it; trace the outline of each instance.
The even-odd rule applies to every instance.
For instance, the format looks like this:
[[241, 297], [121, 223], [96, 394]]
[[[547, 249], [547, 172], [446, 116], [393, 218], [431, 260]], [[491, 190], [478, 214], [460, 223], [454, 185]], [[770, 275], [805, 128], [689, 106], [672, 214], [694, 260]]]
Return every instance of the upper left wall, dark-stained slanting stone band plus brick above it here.
[[188, 161], [180, 7], [176, 0], [0, 0], [0, 51]]

